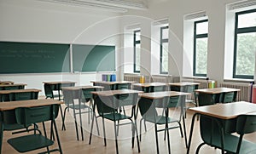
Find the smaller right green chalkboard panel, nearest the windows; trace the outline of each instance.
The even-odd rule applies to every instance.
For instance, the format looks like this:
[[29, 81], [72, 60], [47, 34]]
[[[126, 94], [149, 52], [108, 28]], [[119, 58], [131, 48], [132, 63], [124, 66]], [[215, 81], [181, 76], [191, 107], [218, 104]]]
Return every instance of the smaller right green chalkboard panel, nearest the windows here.
[[115, 71], [115, 47], [73, 44], [73, 71]]

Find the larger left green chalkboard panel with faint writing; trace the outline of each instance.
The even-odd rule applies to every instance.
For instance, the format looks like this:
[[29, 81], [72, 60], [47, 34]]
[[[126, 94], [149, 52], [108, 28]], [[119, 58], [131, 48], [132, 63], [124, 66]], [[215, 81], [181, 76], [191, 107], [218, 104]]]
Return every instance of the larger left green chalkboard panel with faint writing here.
[[0, 42], [0, 73], [70, 72], [69, 44]]

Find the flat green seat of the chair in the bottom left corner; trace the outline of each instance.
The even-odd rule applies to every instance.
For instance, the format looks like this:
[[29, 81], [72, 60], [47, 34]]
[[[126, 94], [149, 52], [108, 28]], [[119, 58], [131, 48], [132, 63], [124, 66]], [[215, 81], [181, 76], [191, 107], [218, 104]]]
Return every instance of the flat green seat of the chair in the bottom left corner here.
[[19, 152], [34, 151], [54, 144], [54, 141], [45, 138], [41, 134], [20, 136], [9, 139], [7, 142]]

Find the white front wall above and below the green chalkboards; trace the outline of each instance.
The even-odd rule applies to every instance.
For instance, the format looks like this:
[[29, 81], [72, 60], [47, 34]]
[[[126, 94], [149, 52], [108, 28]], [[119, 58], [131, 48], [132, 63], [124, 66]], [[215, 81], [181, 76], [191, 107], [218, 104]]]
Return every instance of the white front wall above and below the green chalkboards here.
[[[33, 0], [1, 0], [0, 20], [0, 41], [106, 44], [116, 45], [117, 50], [120, 46], [119, 14], [107, 11]], [[100, 79], [96, 72], [0, 75], [0, 80], [40, 88], [41, 95], [44, 81], [75, 81], [81, 85]]]

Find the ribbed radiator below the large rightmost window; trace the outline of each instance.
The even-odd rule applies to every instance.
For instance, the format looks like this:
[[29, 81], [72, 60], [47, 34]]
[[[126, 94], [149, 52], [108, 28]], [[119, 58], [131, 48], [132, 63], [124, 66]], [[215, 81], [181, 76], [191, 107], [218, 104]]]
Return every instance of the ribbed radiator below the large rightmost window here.
[[240, 91], [237, 93], [236, 101], [251, 101], [252, 97], [252, 83], [219, 83], [218, 87], [226, 88], [239, 88]]

